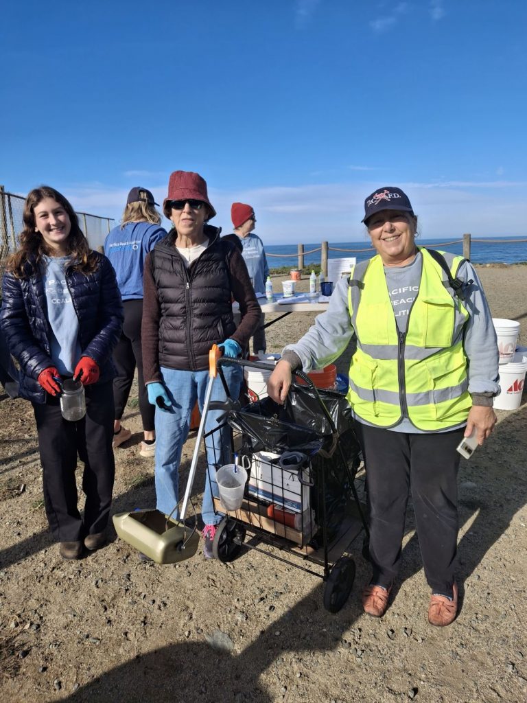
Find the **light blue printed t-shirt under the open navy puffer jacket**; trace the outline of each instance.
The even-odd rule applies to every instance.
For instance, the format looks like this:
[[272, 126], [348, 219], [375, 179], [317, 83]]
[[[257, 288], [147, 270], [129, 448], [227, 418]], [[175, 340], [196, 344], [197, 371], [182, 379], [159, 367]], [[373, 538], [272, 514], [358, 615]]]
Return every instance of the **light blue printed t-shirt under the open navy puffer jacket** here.
[[40, 263], [51, 328], [51, 361], [65, 375], [73, 374], [82, 352], [79, 318], [66, 284], [65, 268], [69, 261], [70, 257], [43, 256]]

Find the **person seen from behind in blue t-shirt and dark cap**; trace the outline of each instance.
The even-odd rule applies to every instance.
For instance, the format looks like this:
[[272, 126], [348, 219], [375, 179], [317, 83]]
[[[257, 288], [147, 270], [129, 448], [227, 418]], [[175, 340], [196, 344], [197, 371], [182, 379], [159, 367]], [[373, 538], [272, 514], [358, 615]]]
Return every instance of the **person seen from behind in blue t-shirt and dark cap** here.
[[155, 408], [148, 402], [143, 380], [141, 352], [141, 318], [143, 318], [143, 266], [148, 252], [167, 236], [160, 227], [161, 215], [157, 202], [146, 188], [132, 188], [119, 226], [112, 229], [104, 243], [104, 251], [117, 274], [117, 284], [124, 304], [122, 335], [114, 351], [117, 377], [114, 379], [115, 424], [114, 449], [131, 437], [131, 430], [121, 425], [137, 366], [139, 411], [143, 421], [144, 439], [141, 456], [155, 456]]

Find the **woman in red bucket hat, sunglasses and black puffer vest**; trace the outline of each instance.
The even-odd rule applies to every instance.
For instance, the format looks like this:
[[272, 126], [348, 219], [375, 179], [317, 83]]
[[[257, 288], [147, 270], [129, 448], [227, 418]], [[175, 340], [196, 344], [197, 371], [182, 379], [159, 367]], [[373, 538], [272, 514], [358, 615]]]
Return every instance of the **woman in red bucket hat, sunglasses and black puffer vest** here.
[[[233, 243], [220, 238], [221, 228], [208, 224], [216, 215], [207, 183], [193, 172], [174, 171], [163, 212], [173, 224], [167, 238], [145, 259], [143, 303], [143, 374], [155, 408], [155, 491], [157, 510], [169, 514], [178, 503], [178, 470], [190, 414], [197, 400], [202, 411], [209, 378], [209, 349], [219, 344], [226, 356], [240, 356], [259, 324], [247, 266]], [[232, 299], [242, 319], [233, 321]], [[230, 395], [237, 397], [242, 368], [223, 369]], [[211, 400], [226, 399], [221, 383]], [[218, 424], [221, 411], [209, 411], [205, 432]], [[216, 433], [215, 433], [216, 434]], [[228, 437], [224, 438], [228, 443]], [[209, 449], [209, 470], [214, 449]], [[211, 482], [205, 479], [202, 504], [204, 555], [221, 515], [214, 512]]]

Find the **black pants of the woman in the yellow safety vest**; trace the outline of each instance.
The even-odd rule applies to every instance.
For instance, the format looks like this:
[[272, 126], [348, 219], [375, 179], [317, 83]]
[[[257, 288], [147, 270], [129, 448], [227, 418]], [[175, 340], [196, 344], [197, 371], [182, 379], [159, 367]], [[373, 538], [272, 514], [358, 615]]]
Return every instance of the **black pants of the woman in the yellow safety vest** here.
[[401, 560], [408, 496], [412, 494], [427, 582], [452, 595], [457, 553], [455, 451], [464, 427], [437, 434], [407, 434], [356, 423], [366, 469], [372, 583], [388, 587]]

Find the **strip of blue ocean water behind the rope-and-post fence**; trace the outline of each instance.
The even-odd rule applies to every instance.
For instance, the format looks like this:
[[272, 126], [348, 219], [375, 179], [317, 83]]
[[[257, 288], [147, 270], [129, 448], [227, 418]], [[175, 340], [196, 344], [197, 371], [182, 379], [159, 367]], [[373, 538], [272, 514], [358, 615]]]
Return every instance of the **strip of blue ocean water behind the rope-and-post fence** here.
[[[521, 240], [525, 241], [521, 241]], [[453, 241], [450, 239], [421, 239], [417, 238], [419, 246], [431, 247], [434, 249], [443, 249], [453, 254], [462, 254], [462, 243], [453, 245], [441, 245], [441, 242], [448, 243]], [[517, 264], [518, 262], [527, 262], [527, 236], [522, 238], [512, 237], [494, 237], [493, 243], [485, 240], [475, 242], [471, 241], [470, 260], [473, 264]], [[266, 254], [280, 254], [280, 257], [268, 257], [270, 269], [278, 268], [279, 266], [290, 266], [296, 269], [298, 266], [298, 245], [266, 245]], [[330, 243], [328, 257], [330, 259], [339, 259], [341, 257], [356, 257], [357, 261], [370, 259], [375, 254], [373, 249], [367, 249], [367, 241], [358, 242], [334, 242]], [[335, 251], [337, 249], [351, 249], [354, 251]], [[304, 244], [304, 251], [308, 252], [312, 249], [319, 249], [313, 254], [304, 254], [304, 267], [308, 268], [311, 264], [320, 264], [320, 243], [319, 244]], [[359, 250], [359, 251], [357, 251]]]

